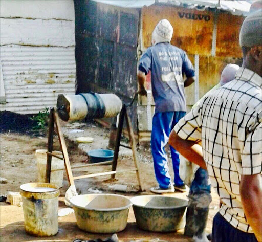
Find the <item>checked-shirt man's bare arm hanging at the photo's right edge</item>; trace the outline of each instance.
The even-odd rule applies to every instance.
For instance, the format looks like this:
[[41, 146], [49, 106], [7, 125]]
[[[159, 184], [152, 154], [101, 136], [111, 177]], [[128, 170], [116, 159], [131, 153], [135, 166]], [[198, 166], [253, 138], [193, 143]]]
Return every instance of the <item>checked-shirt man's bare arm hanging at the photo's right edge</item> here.
[[262, 241], [262, 175], [242, 175], [240, 196], [247, 221], [259, 242]]

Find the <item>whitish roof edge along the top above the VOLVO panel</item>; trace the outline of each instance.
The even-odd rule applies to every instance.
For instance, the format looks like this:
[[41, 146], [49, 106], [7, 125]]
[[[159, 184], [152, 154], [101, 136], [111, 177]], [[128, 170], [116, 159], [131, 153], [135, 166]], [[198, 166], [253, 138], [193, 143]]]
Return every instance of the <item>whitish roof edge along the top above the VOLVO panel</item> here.
[[185, 8], [217, 8], [229, 11], [235, 15], [247, 16], [252, 2], [255, 0], [93, 0], [104, 4], [123, 8], [142, 8], [155, 3], [183, 6]]

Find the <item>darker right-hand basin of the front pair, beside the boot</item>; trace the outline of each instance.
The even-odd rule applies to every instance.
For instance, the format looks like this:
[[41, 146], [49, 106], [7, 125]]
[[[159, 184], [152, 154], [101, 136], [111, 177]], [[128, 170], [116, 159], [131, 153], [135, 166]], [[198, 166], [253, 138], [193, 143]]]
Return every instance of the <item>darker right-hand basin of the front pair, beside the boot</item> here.
[[136, 196], [131, 199], [139, 228], [154, 232], [183, 229], [187, 200], [161, 195]]

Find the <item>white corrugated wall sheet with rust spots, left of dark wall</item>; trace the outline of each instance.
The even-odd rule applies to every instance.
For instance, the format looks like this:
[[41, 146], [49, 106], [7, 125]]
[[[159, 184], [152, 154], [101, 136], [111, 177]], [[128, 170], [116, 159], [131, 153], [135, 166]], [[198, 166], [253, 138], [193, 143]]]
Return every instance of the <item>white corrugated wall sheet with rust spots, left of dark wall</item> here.
[[74, 47], [1, 47], [6, 104], [0, 110], [38, 113], [56, 106], [58, 94], [74, 94]]

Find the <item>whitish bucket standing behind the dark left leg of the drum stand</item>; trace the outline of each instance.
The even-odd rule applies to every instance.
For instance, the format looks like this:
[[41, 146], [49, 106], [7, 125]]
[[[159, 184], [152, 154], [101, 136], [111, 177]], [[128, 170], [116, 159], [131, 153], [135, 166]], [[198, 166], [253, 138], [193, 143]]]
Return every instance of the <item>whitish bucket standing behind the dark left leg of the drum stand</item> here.
[[[62, 157], [62, 152], [53, 151], [53, 154]], [[37, 179], [38, 182], [46, 182], [47, 169], [47, 149], [37, 149], [35, 151], [37, 161]], [[50, 183], [61, 188], [63, 186], [63, 169], [64, 161], [52, 157]], [[58, 170], [59, 169], [59, 170]]]

